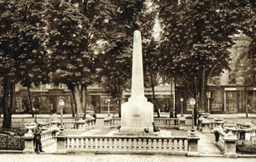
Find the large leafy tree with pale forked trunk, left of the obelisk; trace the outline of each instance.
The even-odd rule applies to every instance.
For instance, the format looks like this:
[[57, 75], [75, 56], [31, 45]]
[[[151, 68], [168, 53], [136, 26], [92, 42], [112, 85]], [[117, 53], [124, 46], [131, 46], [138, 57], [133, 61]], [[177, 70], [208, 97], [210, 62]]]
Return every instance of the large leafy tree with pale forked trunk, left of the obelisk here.
[[[46, 12], [50, 22], [47, 44], [51, 50], [53, 81], [67, 84], [75, 99], [77, 117], [82, 109], [86, 110], [86, 87], [96, 76], [95, 49], [109, 36], [108, 24], [113, 11], [110, 1], [55, 0]], [[82, 87], [83, 103], [79, 86]]]

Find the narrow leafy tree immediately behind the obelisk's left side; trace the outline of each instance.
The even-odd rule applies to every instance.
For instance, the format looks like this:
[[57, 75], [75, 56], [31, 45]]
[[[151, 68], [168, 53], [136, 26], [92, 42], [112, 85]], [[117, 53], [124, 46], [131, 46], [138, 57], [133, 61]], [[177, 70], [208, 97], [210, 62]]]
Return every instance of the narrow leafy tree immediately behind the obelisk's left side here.
[[110, 1], [116, 8], [111, 19], [108, 20], [108, 39], [102, 46], [102, 53], [98, 57], [98, 81], [101, 87], [106, 88], [113, 98], [123, 100], [123, 92], [130, 86], [131, 80], [131, 53], [133, 32], [141, 30], [145, 1], [121, 0]]

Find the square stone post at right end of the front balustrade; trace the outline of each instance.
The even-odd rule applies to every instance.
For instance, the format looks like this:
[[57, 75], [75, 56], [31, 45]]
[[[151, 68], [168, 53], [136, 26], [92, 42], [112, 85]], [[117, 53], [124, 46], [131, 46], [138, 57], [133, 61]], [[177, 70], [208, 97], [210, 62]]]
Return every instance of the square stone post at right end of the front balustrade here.
[[188, 137], [188, 145], [189, 145], [189, 152], [187, 156], [199, 156], [198, 152], [198, 140], [200, 140], [200, 137], [197, 136], [189, 136]]

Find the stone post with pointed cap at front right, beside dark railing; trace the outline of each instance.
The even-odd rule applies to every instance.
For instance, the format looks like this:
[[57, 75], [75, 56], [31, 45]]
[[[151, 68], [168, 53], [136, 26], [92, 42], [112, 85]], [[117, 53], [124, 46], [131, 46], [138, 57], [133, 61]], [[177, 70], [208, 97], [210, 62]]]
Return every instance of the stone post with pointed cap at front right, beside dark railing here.
[[235, 137], [231, 132], [229, 132], [224, 137], [224, 157], [225, 158], [237, 158], [236, 154], [236, 141], [237, 137]]

